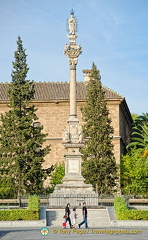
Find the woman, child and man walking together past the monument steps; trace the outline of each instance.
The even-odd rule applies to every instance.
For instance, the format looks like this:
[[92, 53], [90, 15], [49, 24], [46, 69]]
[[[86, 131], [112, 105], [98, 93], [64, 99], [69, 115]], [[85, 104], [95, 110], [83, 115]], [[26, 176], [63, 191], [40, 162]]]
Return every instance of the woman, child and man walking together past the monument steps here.
[[[63, 217], [63, 227], [66, 228], [66, 223], [69, 222], [69, 226], [70, 228], [75, 228], [75, 224], [76, 224], [76, 218], [77, 218], [77, 214], [76, 214], [76, 208], [73, 208], [73, 212], [71, 214], [72, 216], [72, 223], [71, 223], [71, 218], [70, 218], [70, 203], [68, 203], [66, 205], [65, 208], [65, 215]], [[87, 224], [87, 207], [86, 207], [86, 202], [83, 203], [83, 208], [82, 208], [82, 214], [83, 214], [83, 221], [81, 223], [78, 224], [79, 228], [81, 227], [81, 225], [83, 225], [85, 223], [85, 228], [88, 228], [88, 224]]]

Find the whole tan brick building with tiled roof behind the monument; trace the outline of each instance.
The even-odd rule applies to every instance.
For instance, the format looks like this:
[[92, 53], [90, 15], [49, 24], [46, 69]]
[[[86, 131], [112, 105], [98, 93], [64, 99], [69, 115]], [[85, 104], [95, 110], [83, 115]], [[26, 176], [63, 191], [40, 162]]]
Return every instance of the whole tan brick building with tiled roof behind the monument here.
[[[8, 83], [0, 83], [0, 113], [8, 111]], [[116, 162], [120, 163], [121, 154], [129, 141], [132, 117], [124, 97], [103, 87], [112, 126], [114, 128], [113, 144]], [[77, 82], [77, 115], [82, 124], [80, 107], [85, 104], [86, 82]], [[64, 129], [67, 129], [69, 118], [69, 83], [68, 82], [35, 82], [35, 99], [38, 122], [43, 124], [48, 133], [45, 144], [51, 145], [51, 152], [46, 156], [44, 167], [64, 161], [65, 149], [62, 145]]]

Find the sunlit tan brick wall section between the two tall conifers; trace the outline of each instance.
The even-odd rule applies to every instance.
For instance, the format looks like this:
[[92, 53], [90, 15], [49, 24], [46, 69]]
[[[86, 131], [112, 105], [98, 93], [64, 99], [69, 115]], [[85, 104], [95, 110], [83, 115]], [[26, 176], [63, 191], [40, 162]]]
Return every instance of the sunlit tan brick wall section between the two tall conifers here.
[[[79, 103], [77, 107], [77, 114], [79, 119], [79, 126], [82, 124], [82, 116], [80, 106], [84, 103]], [[49, 167], [56, 162], [63, 162], [65, 160], [64, 154], [66, 150], [62, 144], [64, 129], [68, 129], [67, 121], [69, 119], [69, 102], [56, 103], [35, 103], [38, 108], [38, 121], [43, 124], [46, 137], [46, 145], [51, 145], [50, 153], [45, 157], [44, 167]]]

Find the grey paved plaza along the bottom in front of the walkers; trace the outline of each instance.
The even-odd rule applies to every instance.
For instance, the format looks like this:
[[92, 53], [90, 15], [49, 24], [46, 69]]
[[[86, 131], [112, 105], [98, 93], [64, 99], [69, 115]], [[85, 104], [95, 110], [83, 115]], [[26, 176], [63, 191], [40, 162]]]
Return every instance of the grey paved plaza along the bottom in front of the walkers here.
[[[41, 228], [5, 228], [0, 230], [1, 240], [147, 240], [147, 227], [62, 229], [48, 227], [49, 233], [41, 234]], [[101, 231], [102, 230], [102, 231]], [[102, 233], [101, 233], [102, 232]]]

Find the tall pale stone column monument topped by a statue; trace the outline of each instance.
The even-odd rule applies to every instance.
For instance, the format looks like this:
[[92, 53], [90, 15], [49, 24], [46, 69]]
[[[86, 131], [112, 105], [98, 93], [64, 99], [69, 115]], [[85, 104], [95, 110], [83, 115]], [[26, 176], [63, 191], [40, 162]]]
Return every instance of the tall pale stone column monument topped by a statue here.
[[[78, 57], [82, 53], [80, 45], [76, 45], [77, 23], [73, 10], [68, 19], [69, 45], [66, 44], [64, 54], [68, 57], [70, 66], [70, 116], [67, 129], [64, 130], [63, 141], [67, 152], [65, 153], [65, 176], [62, 184], [57, 184], [51, 196], [51, 205], [64, 205], [70, 202], [71, 205], [81, 205], [83, 201], [87, 205], [97, 205], [97, 194], [93, 191], [91, 184], [85, 184], [81, 175], [81, 153], [79, 149], [83, 146], [83, 133], [79, 128], [77, 118], [77, 96], [76, 96], [76, 66]], [[58, 196], [58, 197], [57, 197]], [[58, 202], [60, 199], [60, 203]]]

